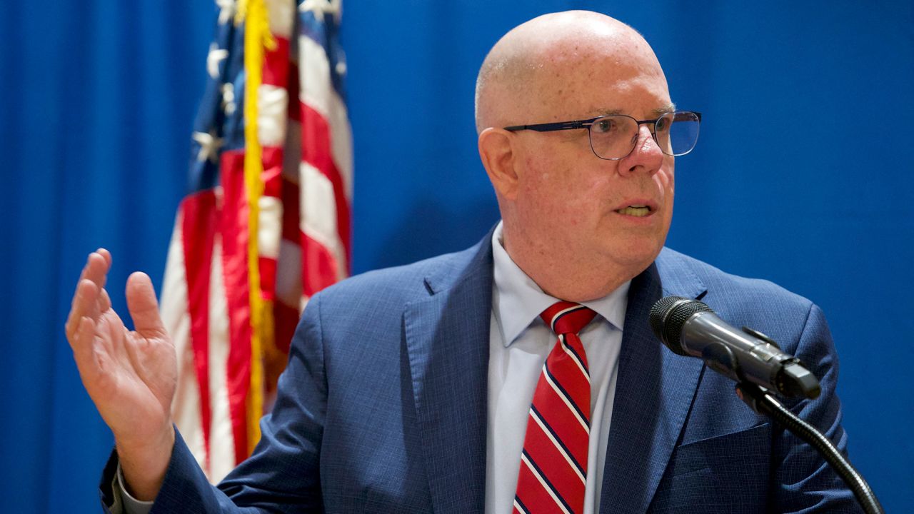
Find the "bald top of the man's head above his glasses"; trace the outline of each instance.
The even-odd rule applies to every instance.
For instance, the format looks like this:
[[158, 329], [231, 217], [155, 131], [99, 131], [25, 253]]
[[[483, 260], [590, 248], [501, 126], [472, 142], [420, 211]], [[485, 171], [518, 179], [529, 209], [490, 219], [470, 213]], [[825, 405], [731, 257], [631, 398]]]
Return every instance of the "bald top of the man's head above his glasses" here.
[[477, 130], [531, 115], [642, 117], [670, 103], [664, 72], [640, 34], [609, 16], [572, 11], [535, 18], [495, 45], [477, 82]]

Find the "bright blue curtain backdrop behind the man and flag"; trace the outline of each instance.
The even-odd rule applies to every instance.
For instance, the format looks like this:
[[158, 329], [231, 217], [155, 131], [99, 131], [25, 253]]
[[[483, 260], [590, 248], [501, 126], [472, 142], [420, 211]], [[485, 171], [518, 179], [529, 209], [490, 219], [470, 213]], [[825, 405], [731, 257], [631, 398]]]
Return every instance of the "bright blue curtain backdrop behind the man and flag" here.
[[[669, 246], [822, 305], [856, 466], [914, 505], [914, 6], [873, 2], [347, 2], [355, 272], [477, 241], [497, 219], [473, 81], [508, 28], [599, 10], [640, 30], [675, 102]], [[206, 0], [5, 2], [0, 13], [0, 511], [90, 512], [111, 434], [63, 336], [87, 252], [161, 284], [215, 20]], [[763, 479], [763, 478], [762, 478]]]

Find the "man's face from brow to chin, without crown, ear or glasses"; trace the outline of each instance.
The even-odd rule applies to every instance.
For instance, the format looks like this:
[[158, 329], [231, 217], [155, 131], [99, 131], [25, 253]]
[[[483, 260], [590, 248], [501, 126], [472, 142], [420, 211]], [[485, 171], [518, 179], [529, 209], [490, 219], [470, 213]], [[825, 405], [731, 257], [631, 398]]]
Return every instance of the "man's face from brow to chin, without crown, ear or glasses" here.
[[[655, 59], [618, 57], [559, 59], [542, 81], [541, 107], [531, 109], [541, 117], [519, 122], [609, 113], [649, 120], [672, 107]], [[586, 129], [515, 133], [523, 149], [515, 201], [523, 237], [582, 266], [609, 260], [632, 276], [646, 268], [663, 247], [673, 215], [674, 158], [656, 145], [653, 128], [641, 125], [632, 153], [616, 161], [593, 154]]]

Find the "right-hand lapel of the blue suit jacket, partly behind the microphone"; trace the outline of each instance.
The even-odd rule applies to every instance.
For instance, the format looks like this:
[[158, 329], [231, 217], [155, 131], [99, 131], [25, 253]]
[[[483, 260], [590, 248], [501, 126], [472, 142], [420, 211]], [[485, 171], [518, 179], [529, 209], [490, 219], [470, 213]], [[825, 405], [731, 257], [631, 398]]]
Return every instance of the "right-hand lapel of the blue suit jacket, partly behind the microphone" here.
[[648, 326], [651, 306], [662, 295], [695, 297], [705, 292], [690, 271], [667, 273], [667, 257], [662, 254], [632, 279], [629, 289], [600, 495], [602, 513], [647, 510], [701, 376], [701, 360], [664, 348]]

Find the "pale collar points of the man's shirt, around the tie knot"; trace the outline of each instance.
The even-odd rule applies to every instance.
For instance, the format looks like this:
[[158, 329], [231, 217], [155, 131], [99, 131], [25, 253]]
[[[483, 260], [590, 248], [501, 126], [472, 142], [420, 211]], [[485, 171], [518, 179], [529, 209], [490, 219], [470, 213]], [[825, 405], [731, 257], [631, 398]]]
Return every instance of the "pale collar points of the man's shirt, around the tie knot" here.
[[[505, 251], [502, 238], [502, 222], [498, 223], [492, 235], [494, 259], [494, 288], [492, 310], [502, 332], [505, 348], [519, 337], [526, 327], [539, 318], [549, 305], [558, 302], [526, 275]], [[622, 284], [615, 291], [602, 298], [582, 302], [610, 322], [612, 327], [622, 330], [625, 308], [628, 305], [628, 290], [632, 281]]]

